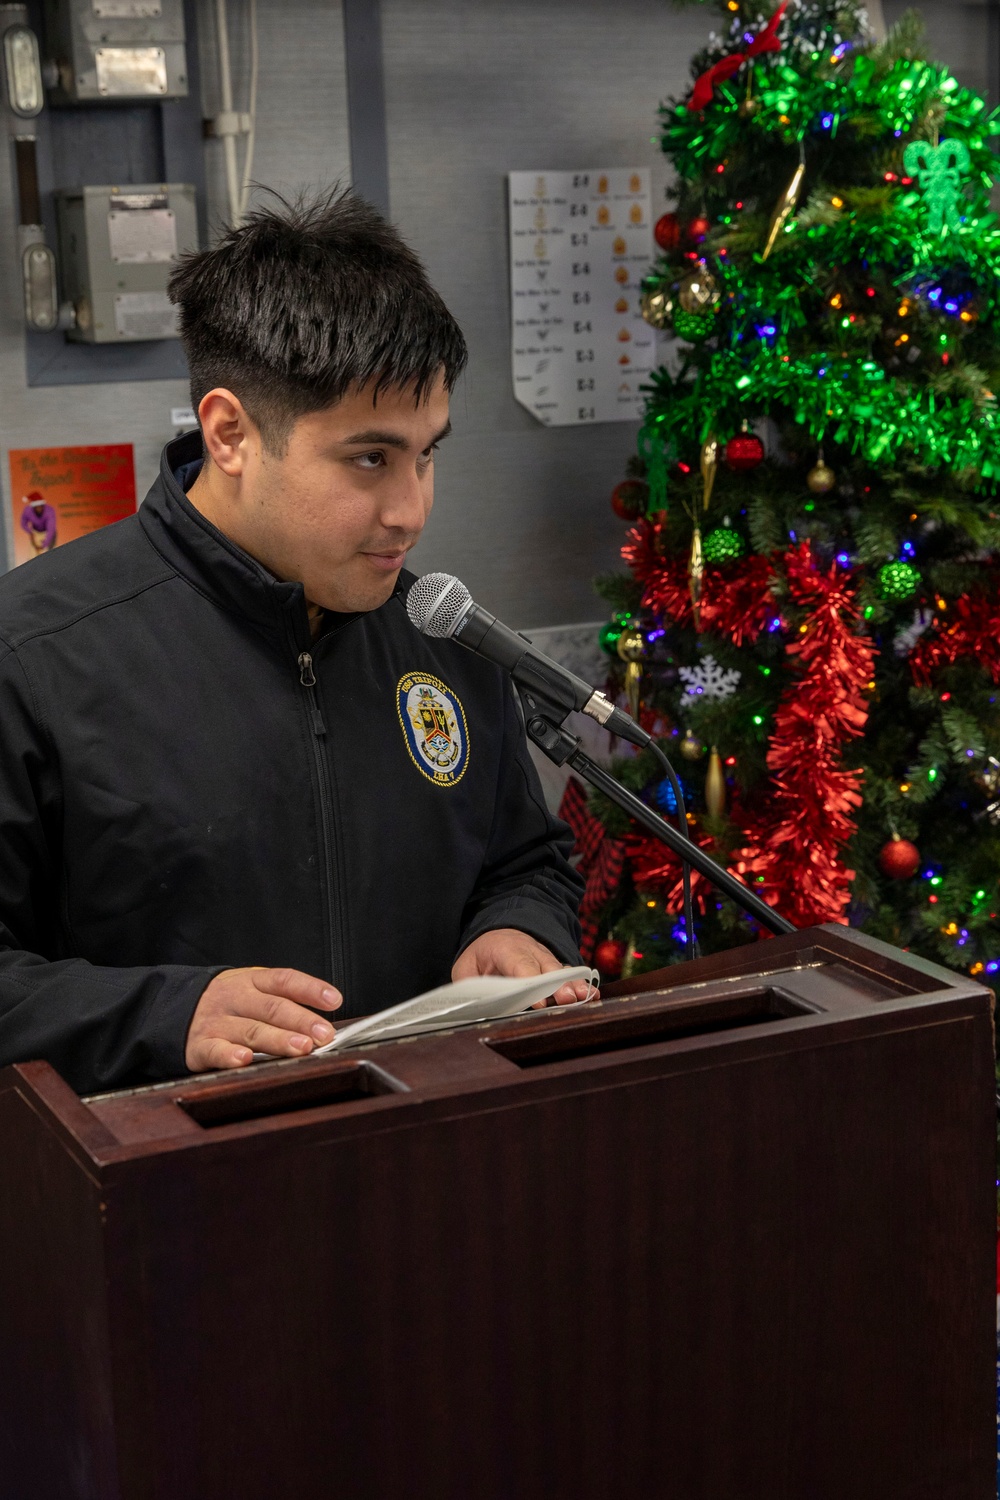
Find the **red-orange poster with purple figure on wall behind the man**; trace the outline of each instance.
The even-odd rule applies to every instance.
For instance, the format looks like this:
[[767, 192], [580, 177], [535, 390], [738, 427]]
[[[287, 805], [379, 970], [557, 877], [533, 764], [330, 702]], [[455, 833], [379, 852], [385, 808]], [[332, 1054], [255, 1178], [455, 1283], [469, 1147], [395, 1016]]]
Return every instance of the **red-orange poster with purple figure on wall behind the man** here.
[[27, 562], [135, 510], [130, 442], [10, 448], [13, 561]]

